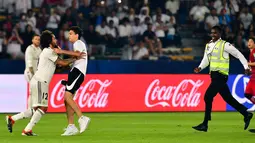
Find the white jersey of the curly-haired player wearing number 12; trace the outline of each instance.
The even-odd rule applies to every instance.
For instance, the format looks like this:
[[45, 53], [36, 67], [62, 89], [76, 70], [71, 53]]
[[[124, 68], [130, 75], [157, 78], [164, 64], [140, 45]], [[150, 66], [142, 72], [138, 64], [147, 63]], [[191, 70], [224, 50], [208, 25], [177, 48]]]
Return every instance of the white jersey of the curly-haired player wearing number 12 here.
[[56, 69], [55, 62], [57, 59], [58, 55], [50, 47], [44, 48], [39, 58], [37, 71], [33, 78], [49, 84]]

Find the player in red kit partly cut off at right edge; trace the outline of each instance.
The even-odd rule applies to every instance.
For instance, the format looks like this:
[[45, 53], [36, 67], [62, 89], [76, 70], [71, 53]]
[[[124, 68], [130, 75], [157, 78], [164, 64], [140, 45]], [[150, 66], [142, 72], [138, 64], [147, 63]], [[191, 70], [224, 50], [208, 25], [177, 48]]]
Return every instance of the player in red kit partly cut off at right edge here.
[[255, 104], [255, 38], [249, 38], [248, 48], [250, 57], [248, 65], [251, 67], [251, 77], [245, 89], [245, 97]]

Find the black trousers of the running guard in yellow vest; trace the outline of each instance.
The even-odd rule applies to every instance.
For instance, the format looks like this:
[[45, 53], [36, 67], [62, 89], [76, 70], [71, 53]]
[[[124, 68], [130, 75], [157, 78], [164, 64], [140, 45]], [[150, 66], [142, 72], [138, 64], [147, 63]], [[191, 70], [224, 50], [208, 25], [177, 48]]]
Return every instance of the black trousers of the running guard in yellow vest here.
[[219, 72], [211, 72], [211, 84], [206, 90], [204, 101], [205, 101], [205, 117], [204, 123], [208, 124], [208, 120], [211, 120], [212, 102], [213, 98], [220, 93], [225, 102], [235, 108], [244, 117], [248, 115], [247, 108], [240, 104], [230, 93], [227, 85], [228, 76], [223, 75]]

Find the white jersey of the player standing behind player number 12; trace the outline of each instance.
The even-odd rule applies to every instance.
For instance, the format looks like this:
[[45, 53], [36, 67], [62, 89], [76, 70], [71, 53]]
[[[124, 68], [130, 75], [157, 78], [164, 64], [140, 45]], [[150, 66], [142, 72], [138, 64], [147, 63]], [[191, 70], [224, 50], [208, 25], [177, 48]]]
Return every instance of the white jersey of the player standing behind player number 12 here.
[[37, 70], [37, 64], [41, 52], [42, 52], [41, 48], [35, 47], [35, 45], [33, 44], [27, 47], [25, 52], [26, 69], [32, 67], [34, 72]]

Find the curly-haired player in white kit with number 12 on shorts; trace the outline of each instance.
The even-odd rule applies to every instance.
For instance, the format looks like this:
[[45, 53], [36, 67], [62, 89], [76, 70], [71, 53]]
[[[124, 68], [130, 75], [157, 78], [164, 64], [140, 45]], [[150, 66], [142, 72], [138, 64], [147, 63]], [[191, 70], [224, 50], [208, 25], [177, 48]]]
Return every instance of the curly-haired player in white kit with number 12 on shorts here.
[[[49, 83], [55, 72], [56, 65], [68, 66], [70, 63], [76, 60], [62, 60], [58, 57], [53, 50], [55, 47], [57, 47], [57, 40], [50, 31], [44, 31], [42, 33], [40, 43], [43, 51], [40, 54], [38, 69], [30, 81], [33, 109], [28, 109], [20, 114], [22, 115], [22, 118], [31, 117], [30, 122], [22, 132], [22, 135], [24, 136], [36, 135], [32, 132], [32, 128], [40, 121], [41, 117], [47, 111]], [[6, 120], [8, 130], [12, 132], [12, 127], [15, 121], [11, 116], [8, 116]]]

